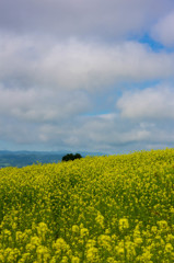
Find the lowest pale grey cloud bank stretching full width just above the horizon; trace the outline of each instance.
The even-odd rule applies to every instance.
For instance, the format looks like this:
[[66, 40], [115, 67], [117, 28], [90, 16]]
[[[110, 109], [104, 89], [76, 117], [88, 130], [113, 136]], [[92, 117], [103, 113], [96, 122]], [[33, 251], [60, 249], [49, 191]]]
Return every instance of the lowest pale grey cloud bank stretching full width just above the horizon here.
[[[0, 137], [31, 149], [68, 149], [73, 151], [90, 150], [102, 152], [129, 152], [174, 145], [174, 135], [169, 122], [163, 125], [156, 121], [123, 118], [111, 113], [96, 116], [69, 116], [59, 122], [27, 122], [12, 115], [0, 119]], [[32, 148], [33, 147], [33, 148]]]

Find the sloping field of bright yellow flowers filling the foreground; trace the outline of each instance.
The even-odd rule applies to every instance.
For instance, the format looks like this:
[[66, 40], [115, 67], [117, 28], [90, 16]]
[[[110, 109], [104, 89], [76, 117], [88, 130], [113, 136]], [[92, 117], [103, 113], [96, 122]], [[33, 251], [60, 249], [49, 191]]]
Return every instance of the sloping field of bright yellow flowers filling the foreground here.
[[174, 149], [1, 169], [7, 262], [174, 262]]

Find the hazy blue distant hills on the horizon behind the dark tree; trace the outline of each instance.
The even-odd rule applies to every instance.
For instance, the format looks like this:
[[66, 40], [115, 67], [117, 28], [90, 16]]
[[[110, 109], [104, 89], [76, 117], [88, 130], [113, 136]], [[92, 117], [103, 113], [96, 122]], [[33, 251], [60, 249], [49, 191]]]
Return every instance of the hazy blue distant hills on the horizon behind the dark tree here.
[[[71, 151], [0, 151], [0, 168], [5, 167], [26, 167], [34, 163], [57, 163], [62, 157]], [[82, 157], [103, 156], [101, 152], [78, 151]]]

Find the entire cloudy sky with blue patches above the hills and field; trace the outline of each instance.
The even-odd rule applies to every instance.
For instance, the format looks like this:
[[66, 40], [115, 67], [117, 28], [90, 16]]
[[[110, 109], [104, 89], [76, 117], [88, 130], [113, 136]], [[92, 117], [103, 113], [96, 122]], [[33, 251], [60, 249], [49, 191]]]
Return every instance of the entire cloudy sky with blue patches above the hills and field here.
[[0, 1], [0, 150], [166, 147], [173, 0]]

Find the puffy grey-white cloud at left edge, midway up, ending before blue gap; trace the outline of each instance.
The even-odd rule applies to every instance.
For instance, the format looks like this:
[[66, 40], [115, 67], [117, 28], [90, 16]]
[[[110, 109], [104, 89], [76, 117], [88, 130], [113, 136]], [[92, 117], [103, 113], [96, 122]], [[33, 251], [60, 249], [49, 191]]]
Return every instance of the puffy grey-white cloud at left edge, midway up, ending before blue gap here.
[[85, 94], [55, 93], [39, 89], [4, 89], [0, 87], [0, 115], [31, 123], [63, 122], [89, 110]]

